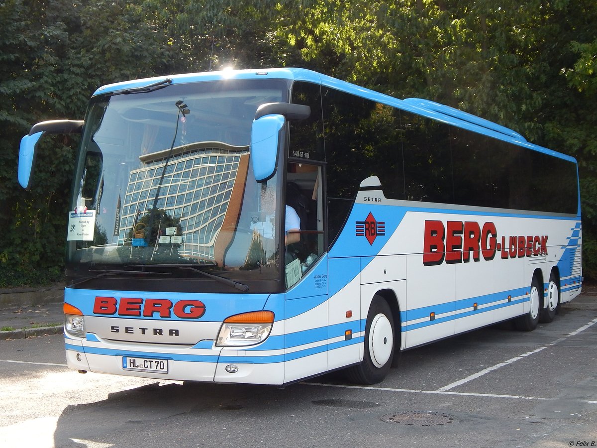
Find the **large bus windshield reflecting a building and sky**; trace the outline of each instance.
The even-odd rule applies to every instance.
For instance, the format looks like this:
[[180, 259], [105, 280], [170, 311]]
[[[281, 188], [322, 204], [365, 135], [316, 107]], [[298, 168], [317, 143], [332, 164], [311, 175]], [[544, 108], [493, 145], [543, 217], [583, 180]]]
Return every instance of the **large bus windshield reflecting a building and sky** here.
[[278, 278], [281, 181], [254, 180], [249, 143], [257, 107], [286, 101], [287, 87], [275, 79], [94, 97], [67, 266], [80, 275], [191, 266], [238, 281]]

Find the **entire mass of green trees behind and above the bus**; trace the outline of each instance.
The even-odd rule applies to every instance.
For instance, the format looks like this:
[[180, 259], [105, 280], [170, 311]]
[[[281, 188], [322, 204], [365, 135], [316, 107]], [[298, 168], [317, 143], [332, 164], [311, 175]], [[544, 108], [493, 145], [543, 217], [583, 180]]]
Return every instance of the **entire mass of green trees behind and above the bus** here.
[[0, 287], [63, 270], [77, 141], [47, 139], [25, 192], [17, 148], [30, 125], [81, 119], [109, 82], [224, 65], [317, 69], [574, 155], [585, 274], [597, 277], [596, 24], [586, 0], [0, 0]]

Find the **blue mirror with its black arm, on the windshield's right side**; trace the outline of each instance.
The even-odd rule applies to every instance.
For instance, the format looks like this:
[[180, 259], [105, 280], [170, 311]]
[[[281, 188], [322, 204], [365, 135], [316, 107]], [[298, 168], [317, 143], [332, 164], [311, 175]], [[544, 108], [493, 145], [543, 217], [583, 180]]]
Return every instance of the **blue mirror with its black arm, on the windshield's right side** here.
[[266, 103], [257, 108], [251, 128], [251, 158], [257, 182], [265, 182], [276, 174], [286, 120], [305, 119], [310, 114], [309, 106], [291, 103]]

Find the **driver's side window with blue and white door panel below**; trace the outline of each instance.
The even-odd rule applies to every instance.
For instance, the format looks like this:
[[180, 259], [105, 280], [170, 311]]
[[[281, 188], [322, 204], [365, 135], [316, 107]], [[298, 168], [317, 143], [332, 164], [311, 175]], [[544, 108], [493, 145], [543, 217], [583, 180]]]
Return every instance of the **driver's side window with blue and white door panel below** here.
[[328, 368], [328, 260], [324, 256], [322, 167], [289, 162], [285, 185], [284, 382]]

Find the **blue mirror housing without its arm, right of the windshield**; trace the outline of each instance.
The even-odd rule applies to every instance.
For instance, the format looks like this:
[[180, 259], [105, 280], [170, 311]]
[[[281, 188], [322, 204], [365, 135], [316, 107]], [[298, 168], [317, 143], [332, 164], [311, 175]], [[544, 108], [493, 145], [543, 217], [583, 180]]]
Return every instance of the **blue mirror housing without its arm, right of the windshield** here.
[[286, 119], [283, 115], [264, 115], [253, 120], [251, 128], [251, 158], [253, 175], [257, 182], [265, 182], [276, 174], [282, 128]]

